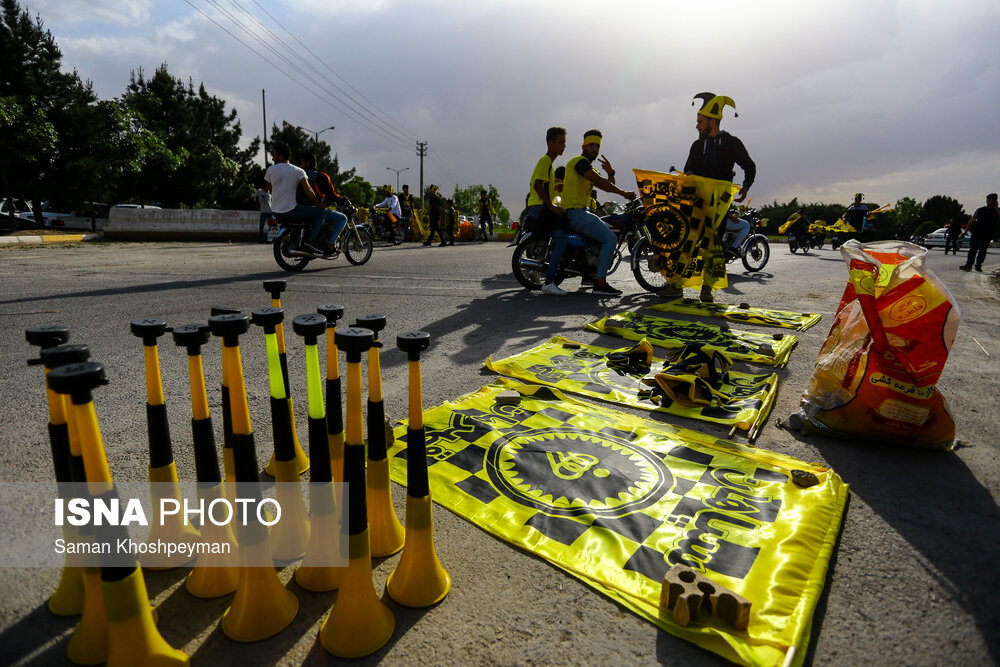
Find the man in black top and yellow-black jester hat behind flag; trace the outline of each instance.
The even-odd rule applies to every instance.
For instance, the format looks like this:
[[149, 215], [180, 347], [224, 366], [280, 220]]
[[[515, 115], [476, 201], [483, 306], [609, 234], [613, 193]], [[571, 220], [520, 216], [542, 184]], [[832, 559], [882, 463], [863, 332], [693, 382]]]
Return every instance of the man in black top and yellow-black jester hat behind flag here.
[[[704, 100], [704, 103], [698, 110], [695, 121], [698, 139], [691, 144], [691, 150], [688, 151], [688, 159], [684, 163], [684, 173], [720, 181], [732, 181], [736, 176], [733, 167], [734, 165], [739, 166], [743, 170], [743, 183], [733, 199], [733, 203], [738, 204], [746, 199], [747, 192], [757, 177], [757, 165], [750, 159], [750, 154], [742, 141], [719, 128], [719, 124], [722, 122], [722, 110], [727, 106], [735, 109], [736, 102], [731, 97], [713, 93], [698, 93], [695, 95], [695, 99]], [[750, 231], [749, 223], [740, 220], [735, 215], [727, 215], [725, 220], [726, 231], [734, 231], [738, 236], [742, 235], [744, 238], [746, 233]], [[661, 290], [661, 294], [667, 296], [679, 296], [682, 292], [683, 290], [680, 288], [672, 286]], [[707, 285], [701, 287], [701, 300], [713, 301], [712, 289]]]

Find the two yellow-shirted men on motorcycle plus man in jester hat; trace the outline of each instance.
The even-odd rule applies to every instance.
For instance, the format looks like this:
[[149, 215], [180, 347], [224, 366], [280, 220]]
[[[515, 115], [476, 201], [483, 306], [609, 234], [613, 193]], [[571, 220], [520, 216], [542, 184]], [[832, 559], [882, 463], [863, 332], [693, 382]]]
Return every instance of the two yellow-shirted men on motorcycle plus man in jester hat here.
[[[722, 121], [722, 110], [725, 106], [736, 108], [736, 103], [729, 97], [701, 93], [696, 99], [704, 100], [698, 110], [695, 127], [698, 139], [691, 145], [684, 171], [695, 176], [731, 181], [735, 176], [734, 166], [743, 171], [743, 182], [734, 203], [742, 202], [750, 186], [753, 185], [757, 167], [747, 153], [743, 142], [728, 132], [719, 128]], [[545, 134], [546, 152], [535, 164], [529, 183], [527, 201], [527, 219], [536, 227], [548, 231], [553, 238], [552, 254], [542, 292], [561, 296], [565, 290], [555, 284], [559, 273], [559, 263], [569, 243], [569, 233], [575, 232], [589, 237], [600, 244], [597, 259], [597, 270], [592, 276], [592, 292], [600, 296], [618, 296], [618, 290], [608, 284], [607, 273], [614, 257], [617, 238], [604, 222], [591, 210], [594, 188], [619, 195], [629, 201], [635, 199], [636, 193], [626, 191], [615, 183], [615, 170], [610, 161], [601, 155], [603, 135], [599, 130], [587, 130], [583, 134], [583, 146], [580, 155], [571, 158], [565, 165], [561, 192], [557, 191], [556, 169], [554, 161], [566, 150], [566, 129], [550, 127]], [[594, 167], [594, 161], [603, 170], [602, 176]], [[558, 196], [558, 199], [557, 199]], [[727, 218], [727, 230], [732, 225], [733, 231], [746, 234], [749, 225], [738, 218], [732, 221]], [[678, 296], [681, 289], [668, 286], [664, 288], [665, 296]], [[707, 286], [701, 290], [702, 301], [712, 301], [712, 291]]]

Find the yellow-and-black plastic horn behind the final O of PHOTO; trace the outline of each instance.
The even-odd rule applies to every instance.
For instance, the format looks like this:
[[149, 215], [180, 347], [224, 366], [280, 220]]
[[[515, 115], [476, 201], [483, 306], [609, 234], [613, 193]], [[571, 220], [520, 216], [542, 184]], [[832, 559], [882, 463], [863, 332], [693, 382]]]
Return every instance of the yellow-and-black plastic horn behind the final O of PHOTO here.
[[[236, 495], [259, 501], [257, 449], [250, 426], [250, 406], [240, 358], [240, 336], [250, 328], [250, 317], [243, 314], [216, 315], [209, 318], [208, 326], [213, 335], [222, 338], [223, 373], [227, 373], [230, 380], [229, 408], [235, 439], [233, 465], [238, 487]], [[281, 583], [273, 567], [249, 565], [268, 562], [271, 547], [267, 527], [246, 518], [237, 524], [240, 583], [232, 605], [222, 616], [222, 631], [230, 639], [255, 642], [284, 630], [298, 613], [299, 600]]]

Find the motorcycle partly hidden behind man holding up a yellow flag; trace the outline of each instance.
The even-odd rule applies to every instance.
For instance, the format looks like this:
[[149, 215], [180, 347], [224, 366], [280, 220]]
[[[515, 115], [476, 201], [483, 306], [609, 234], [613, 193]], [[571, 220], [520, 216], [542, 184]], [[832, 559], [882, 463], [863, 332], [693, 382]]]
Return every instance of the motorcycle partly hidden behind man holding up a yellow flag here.
[[[747, 271], [760, 271], [771, 257], [771, 247], [767, 237], [757, 231], [761, 221], [755, 209], [746, 209], [742, 219], [750, 223], [750, 231], [739, 246], [735, 245], [736, 232], [725, 232], [722, 235], [723, 256], [726, 264], [739, 259]], [[667, 230], [665, 234], [664, 229]], [[658, 292], [667, 286], [667, 279], [661, 271], [661, 268], [669, 271], [669, 267], [661, 266], [665, 261], [663, 251], [679, 248], [687, 238], [686, 229], [686, 224], [680, 220], [673, 225], [664, 225], [661, 221], [658, 226], [661, 238], [657, 245], [662, 249], [657, 249], [652, 243], [651, 228], [638, 226], [639, 240], [632, 247], [632, 275], [643, 289]]]

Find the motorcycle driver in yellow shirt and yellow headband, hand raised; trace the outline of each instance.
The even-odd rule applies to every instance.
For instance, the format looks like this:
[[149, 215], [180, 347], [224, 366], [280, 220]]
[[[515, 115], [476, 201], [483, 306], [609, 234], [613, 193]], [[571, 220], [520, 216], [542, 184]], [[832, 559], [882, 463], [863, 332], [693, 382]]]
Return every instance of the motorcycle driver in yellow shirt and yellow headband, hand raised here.
[[602, 156], [600, 161], [601, 169], [607, 174], [607, 178], [594, 169], [593, 162], [601, 152], [603, 137], [599, 130], [587, 130], [583, 134], [582, 153], [566, 163], [562, 207], [566, 211], [570, 229], [601, 244], [593, 293], [599, 296], [620, 296], [621, 290], [615, 289], [607, 281], [608, 267], [611, 266], [618, 239], [614, 232], [590, 210], [590, 190], [596, 186], [605, 192], [625, 197], [629, 201], [635, 199], [635, 193], [627, 192], [615, 185], [615, 170], [607, 158]]

